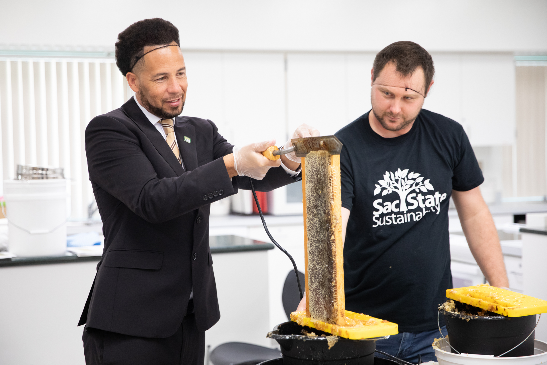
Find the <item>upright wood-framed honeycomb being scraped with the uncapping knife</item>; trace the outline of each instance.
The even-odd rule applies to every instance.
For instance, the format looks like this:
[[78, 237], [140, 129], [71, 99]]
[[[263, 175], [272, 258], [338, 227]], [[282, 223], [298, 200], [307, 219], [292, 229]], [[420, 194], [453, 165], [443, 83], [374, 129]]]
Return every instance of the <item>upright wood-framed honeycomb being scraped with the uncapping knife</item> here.
[[307, 236], [306, 297], [313, 320], [343, 325], [340, 155], [310, 152], [304, 159]]

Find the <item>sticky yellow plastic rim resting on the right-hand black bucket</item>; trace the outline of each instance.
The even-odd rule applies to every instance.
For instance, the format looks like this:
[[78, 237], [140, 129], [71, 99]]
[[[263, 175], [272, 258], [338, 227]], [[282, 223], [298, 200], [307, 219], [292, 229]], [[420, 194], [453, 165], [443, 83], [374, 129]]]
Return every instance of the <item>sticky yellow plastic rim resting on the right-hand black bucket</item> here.
[[508, 317], [547, 312], [547, 300], [511, 292], [488, 284], [446, 289], [446, 297]]

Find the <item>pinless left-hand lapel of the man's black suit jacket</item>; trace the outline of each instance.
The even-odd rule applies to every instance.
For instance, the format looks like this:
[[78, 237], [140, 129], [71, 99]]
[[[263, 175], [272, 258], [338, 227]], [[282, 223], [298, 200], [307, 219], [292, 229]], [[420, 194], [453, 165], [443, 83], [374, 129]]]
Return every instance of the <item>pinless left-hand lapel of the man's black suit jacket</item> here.
[[[150, 120], [148, 120], [146, 115], [144, 115], [138, 107], [137, 102], [131, 98], [123, 106], [121, 106], [121, 109], [123, 109], [125, 114], [131, 118], [135, 124], [137, 124], [138, 128], [141, 129], [144, 135], [148, 137], [150, 142], [154, 144], [156, 150], [158, 150], [161, 157], [163, 157], [169, 166], [171, 166], [171, 169], [173, 169], [176, 175], [181, 176], [184, 173], [184, 169], [181, 164], [178, 163], [177, 158], [174, 157], [174, 153], [164, 140], [164, 136], [162, 136], [160, 131], [157, 130], [152, 123], [150, 123]], [[186, 166], [186, 161], [184, 161], [184, 163]]]

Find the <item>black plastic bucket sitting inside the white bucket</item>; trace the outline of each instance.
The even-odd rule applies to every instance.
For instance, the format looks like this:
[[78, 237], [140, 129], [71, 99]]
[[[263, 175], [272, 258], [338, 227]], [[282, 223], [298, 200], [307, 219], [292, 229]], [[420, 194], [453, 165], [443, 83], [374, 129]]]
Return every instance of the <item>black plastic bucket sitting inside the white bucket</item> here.
[[[454, 302], [458, 312], [465, 311], [470, 315], [456, 314], [439, 309], [444, 315], [450, 345], [464, 354], [499, 356], [520, 344], [536, 326], [536, 315], [523, 317], [506, 317], [486, 311], [477, 315], [481, 309]], [[456, 353], [451, 349], [453, 353]], [[534, 355], [534, 333], [516, 349], [502, 357]]]

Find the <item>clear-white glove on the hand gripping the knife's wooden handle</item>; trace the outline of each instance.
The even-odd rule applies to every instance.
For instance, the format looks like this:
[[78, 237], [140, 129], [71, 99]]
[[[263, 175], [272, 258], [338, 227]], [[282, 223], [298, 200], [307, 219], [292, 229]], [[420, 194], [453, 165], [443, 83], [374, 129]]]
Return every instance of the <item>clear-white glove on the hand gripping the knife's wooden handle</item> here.
[[271, 167], [281, 166], [281, 159], [271, 161], [261, 153], [268, 147], [274, 146], [275, 140], [247, 144], [243, 147], [234, 147], [234, 168], [239, 176], [249, 176], [261, 180]]

